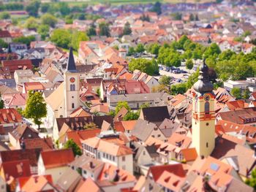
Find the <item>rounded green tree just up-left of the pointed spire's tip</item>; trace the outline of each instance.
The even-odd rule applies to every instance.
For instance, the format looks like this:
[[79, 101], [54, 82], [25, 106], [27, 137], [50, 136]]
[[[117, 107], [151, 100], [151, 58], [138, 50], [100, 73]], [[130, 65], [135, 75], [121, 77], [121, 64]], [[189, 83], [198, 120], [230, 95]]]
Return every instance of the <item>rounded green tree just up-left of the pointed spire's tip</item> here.
[[72, 40], [72, 34], [69, 33], [69, 31], [57, 28], [53, 31], [53, 33], [50, 36], [50, 41], [54, 42], [57, 46], [63, 47], [63, 48], [69, 48], [69, 45]]

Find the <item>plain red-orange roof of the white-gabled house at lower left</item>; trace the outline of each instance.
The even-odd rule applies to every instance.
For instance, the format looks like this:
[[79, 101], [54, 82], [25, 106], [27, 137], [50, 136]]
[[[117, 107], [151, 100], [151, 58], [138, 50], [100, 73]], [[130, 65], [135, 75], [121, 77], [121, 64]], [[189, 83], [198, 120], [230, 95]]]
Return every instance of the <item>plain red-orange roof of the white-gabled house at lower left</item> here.
[[75, 160], [72, 149], [43, 151], [41, 156], [46, 169], [67, 166]]

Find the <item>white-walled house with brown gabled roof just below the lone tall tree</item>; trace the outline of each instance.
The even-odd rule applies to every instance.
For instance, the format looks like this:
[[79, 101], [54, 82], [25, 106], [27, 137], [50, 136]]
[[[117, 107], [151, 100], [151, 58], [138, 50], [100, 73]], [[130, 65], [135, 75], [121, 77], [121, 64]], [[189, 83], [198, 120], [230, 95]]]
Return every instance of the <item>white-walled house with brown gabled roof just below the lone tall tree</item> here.
[[27, 126], [25, 123], [15, 128], [12, 132], [9, 132], [10, 144], [17, 148], [20, 148], [23, 139], [36, 138], [39, 138], [38, 131]]

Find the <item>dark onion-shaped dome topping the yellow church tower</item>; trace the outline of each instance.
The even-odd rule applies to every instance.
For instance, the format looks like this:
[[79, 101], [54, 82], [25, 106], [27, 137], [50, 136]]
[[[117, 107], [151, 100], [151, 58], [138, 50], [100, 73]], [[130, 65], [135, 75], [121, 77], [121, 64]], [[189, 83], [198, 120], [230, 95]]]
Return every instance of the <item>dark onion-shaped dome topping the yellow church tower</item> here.
[[208, 66], [206, 65], [206, 61], [203, 60], [203, 64], [199, 66], [199, 77], [197, 82], [194, 84], [195, 91], [199, 93], [211, 93], [214, 90], [214, 85], [212, 85], [211, 81], [209, 80], [208, 74]]

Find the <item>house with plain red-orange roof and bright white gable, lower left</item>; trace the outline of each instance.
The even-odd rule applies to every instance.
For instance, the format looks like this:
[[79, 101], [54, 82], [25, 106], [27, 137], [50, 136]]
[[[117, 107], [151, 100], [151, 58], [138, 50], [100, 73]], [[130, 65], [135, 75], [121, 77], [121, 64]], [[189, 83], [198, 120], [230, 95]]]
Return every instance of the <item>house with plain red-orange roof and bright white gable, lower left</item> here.
[[56, 183], [74, 159], [71, 149], [42, 151], [38, 159], [38, 174], [51, 174], [53, 183]]

